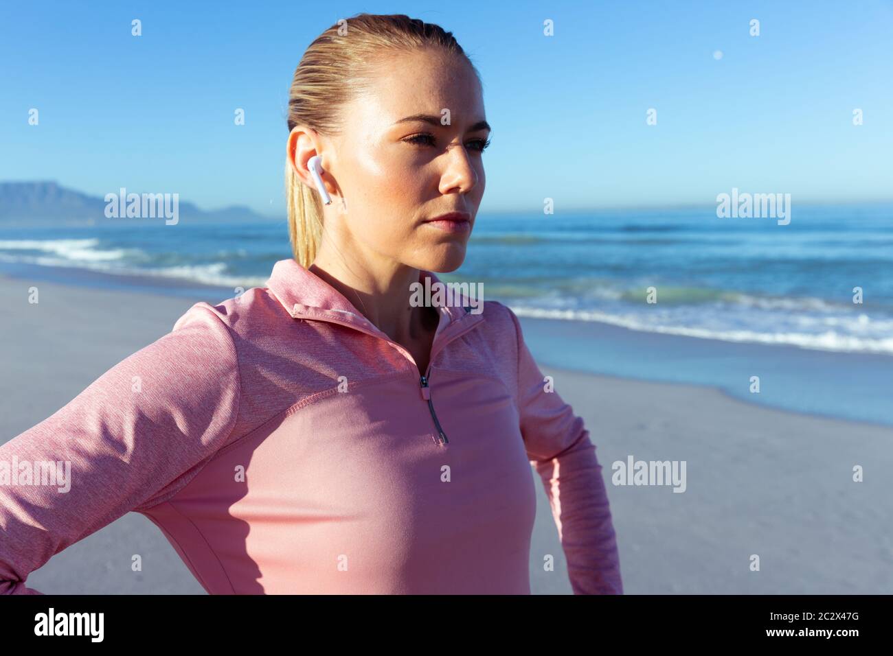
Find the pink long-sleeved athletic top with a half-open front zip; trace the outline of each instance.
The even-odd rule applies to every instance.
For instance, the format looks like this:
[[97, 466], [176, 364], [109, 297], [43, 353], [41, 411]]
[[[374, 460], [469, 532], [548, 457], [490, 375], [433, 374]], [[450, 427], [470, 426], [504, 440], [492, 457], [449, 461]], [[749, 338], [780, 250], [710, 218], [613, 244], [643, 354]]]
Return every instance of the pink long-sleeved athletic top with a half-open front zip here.
[[[530, 594], [533, 465], [573, 592], [622, 594], [588, 430], [513, 311], [482, 307], [438, 306], [420, 377], [294, 260], [194, 304], [0, 446], [0, 593], [41, 594], [31, 571], [136, 511], [209, 594]], [[22, 480], [49, 461], [67, 492]]]

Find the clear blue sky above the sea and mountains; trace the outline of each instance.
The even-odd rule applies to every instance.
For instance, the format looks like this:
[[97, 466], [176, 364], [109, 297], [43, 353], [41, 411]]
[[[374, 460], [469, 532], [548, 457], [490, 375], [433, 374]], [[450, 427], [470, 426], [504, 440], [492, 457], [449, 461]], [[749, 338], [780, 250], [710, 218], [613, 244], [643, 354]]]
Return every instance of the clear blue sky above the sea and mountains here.
[[541, 212], [545, 197], [556, 212], [714, 204], [732, 187], [893, 199], [893, 2], [880, 0], [4, 3], [0, 180], [279, 214], [291, 76], [356, 12], [437, 22], [471, 54], [493, 126], [480, 212]]

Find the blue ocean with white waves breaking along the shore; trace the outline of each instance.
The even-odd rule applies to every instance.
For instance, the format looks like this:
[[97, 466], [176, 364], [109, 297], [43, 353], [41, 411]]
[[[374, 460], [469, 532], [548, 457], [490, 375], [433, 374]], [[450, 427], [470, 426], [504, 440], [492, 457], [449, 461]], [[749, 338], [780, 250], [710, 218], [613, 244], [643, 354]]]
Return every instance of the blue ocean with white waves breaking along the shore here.
[[[804, 354], [794, 384], [805, 392], [797, 394], [799, 401], [775, 404], [893, 424], [888, 398], [893, 383], [893, 204], [795, 205], [792, 210], [788, 225], [765, 218], [721, 219], [714, 206], [479, 212], [463, 266], [438, 275], [445, 281], [482, 283], [484, 299], [501, 301], [521, 317], [571, 320], [583, 327], [571, 332], [590, 352], [594, 346], [586, 337], [587, 324], [627, 328], [633, 336], [724, 343], [722, 353], [748, 353], [747, 358], [755, 353], [748, 345], [793, 347], [784, 352]], [[273, 263], [288, 257], [285, 220], [213, 226], [180, 220], [166, 226], [163, 220], [132, 219], [89, 228], [0, 228], [0, 271], [198, 295], [211, 303], [240, 288], [265, 285]], [[630, 340], [634, 350], [636, 340]], [[538, 339], [540, 351], [559, 366], [714, 384], [734, 393], [728, 368], [711, 374], [714, 366], [691, 359], [662, 365], [660, 357], [611, 357], [610, 349], [577, 361], [566, 344], [547, 342]], [[653, 339], [638, 340], [646, 343]], [[861, 394], [856, 397], [838, 380], [829, 384], [827, 394], [812, 393], [822, 403], [810, 403], [810, 386], [818, 383], [806, 378], [822, 372], [807, 363], [828, 357], [835, 362], [827, 372], [831, 377], [865, 378], [864, 364], [870, 363], [872, 372], [863, 382], [880, 389], [866, 392], [856, 385]], [[841, 362], [860, 364], [847, 372], [840, 370]]]

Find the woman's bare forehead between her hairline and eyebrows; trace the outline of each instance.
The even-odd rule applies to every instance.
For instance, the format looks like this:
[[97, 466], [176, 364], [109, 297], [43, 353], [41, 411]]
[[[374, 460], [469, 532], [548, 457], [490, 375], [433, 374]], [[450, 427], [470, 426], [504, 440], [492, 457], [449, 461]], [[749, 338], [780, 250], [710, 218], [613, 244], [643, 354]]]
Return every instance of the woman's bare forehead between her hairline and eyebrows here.
[[443, 109], [450, 111], [455, 126], [485, 119], [480, 81], [463, 57], [423, 50], [389, 54], [375, 62], [348, 113], [380, 131], [412, 114], [439, 117]]

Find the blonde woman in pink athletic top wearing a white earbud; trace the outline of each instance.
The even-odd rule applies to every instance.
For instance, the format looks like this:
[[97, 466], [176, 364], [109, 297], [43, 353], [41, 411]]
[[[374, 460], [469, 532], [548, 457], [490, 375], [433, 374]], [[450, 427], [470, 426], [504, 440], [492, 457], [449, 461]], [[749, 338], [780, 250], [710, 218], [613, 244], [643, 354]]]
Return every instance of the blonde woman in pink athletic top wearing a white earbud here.
[[533, 464], [573, 591], [622, 593], [595, 448], [513, 312], [412, 302], [463, 262], [481, 94], [452, 34], [404, 15], [313, 42], [288, 104], [295, 259], [0, 448], [71, 462], [66, 492], [0, 486], [0, 591], [36, 593], [29, 572], [137, 511], [210, 594], [530, 594]]

